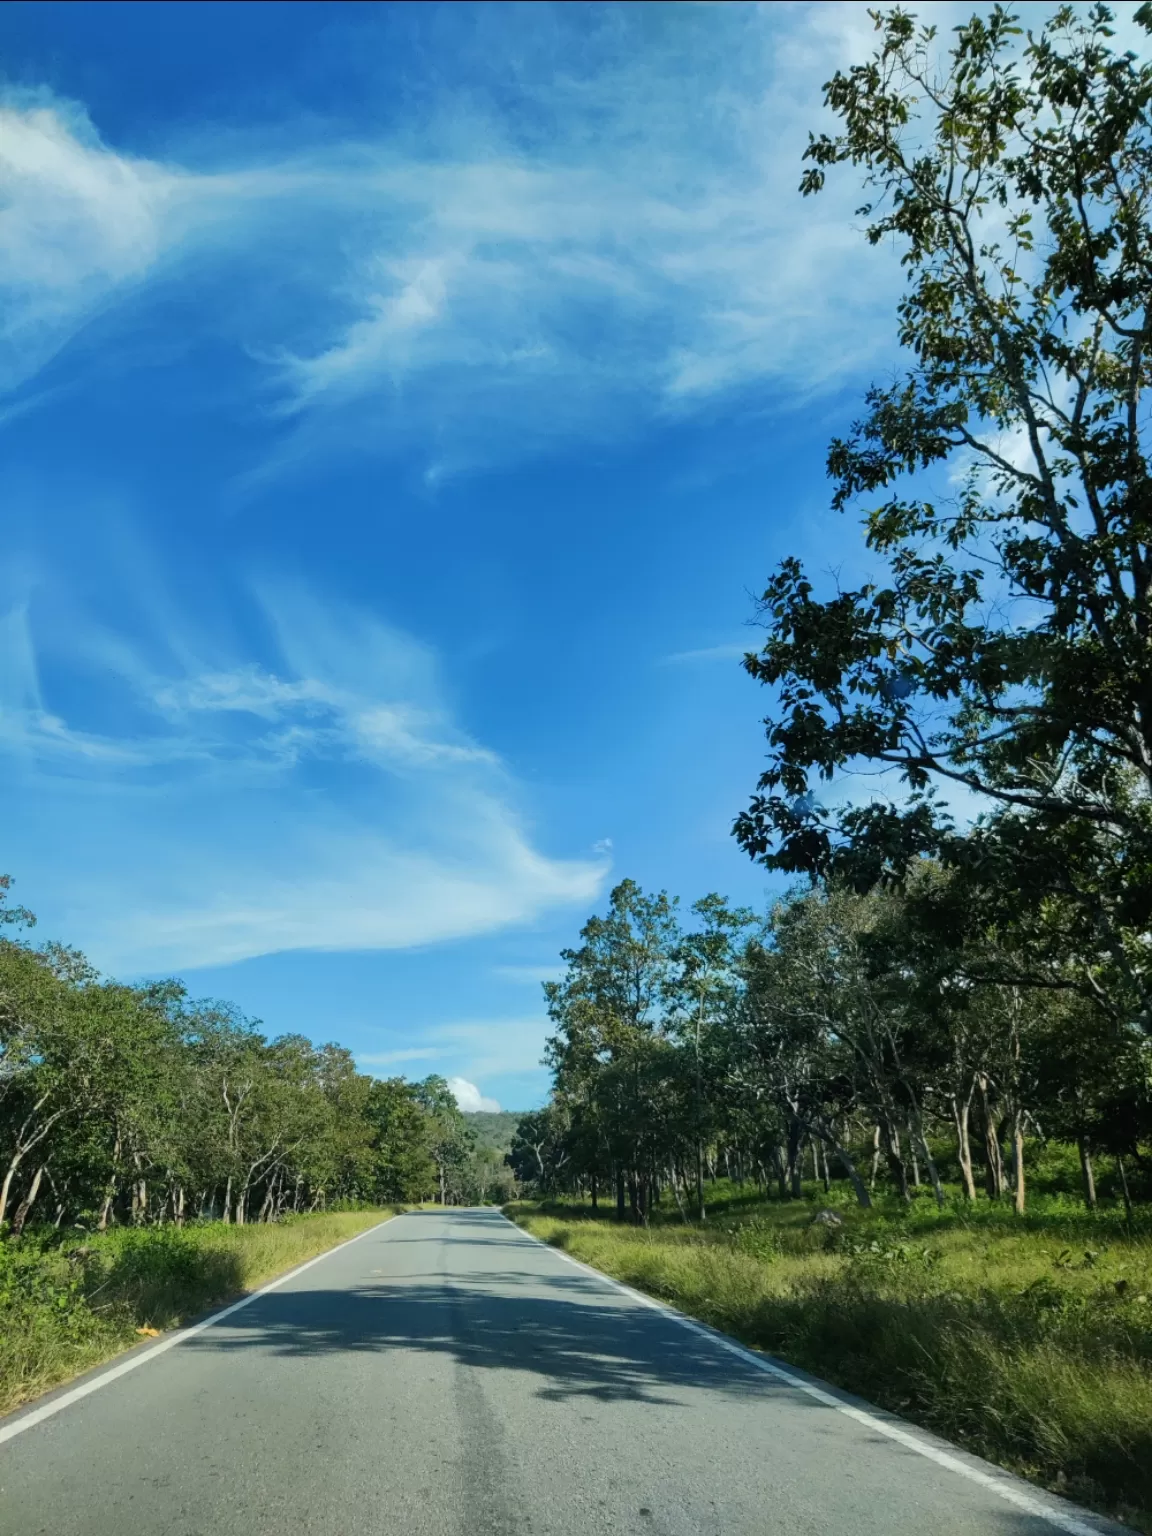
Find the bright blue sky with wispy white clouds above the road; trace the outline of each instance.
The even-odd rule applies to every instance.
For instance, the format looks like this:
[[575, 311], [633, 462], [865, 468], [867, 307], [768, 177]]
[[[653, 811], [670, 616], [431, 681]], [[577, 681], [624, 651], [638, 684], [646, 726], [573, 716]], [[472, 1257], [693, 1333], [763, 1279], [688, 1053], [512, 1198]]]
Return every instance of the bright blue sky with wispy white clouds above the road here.
[[859, 565], [823, 453], [894, 362], [859, 189], [796, 192], [869, 37], [3, 9], [0, 869], [40, 935], [524, 1107], [614, 880], [766, 900], [753, 593]]

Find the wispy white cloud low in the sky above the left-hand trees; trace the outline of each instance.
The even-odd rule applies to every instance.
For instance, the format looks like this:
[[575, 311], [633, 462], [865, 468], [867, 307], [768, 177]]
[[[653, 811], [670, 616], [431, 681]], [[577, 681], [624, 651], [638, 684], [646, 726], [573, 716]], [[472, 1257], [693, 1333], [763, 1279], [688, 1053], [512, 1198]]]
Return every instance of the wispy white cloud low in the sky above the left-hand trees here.
[[104, 645], [138, 723], [100, 736], [45, 707], [35, 624], [9, 622], [0, 753], [32, 814], [5, 857], [61, 860], [54, 932], [114, 972], [166, 971], [427, 945], [594, 899], [604, 860], [535, 846], [427, 647], [300, 591], [261, 611], [266, 665], [158, 677]]

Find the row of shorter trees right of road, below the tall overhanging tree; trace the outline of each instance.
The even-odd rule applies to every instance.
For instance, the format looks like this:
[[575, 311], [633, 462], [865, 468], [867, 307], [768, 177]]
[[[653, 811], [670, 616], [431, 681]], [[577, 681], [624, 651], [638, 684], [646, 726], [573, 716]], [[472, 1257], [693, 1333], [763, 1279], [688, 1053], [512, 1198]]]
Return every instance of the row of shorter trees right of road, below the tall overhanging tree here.
[[1052, 1143], [1089, 1207], [1101, 1174], [1117, 1200], [1152, 1193], [1147, 1037], [1072, 986], [1021, 985], [938, 865], [903, 889], [799, 889], [766, 920], [708, 895], [687, 928], [625, 880], [581, 938], [547, 986], [553, 1095], [511, 1152], [541, 1193], [634, 1221], [664, 1193], [688, 1220], [722, 1174], [1023, 1210]]

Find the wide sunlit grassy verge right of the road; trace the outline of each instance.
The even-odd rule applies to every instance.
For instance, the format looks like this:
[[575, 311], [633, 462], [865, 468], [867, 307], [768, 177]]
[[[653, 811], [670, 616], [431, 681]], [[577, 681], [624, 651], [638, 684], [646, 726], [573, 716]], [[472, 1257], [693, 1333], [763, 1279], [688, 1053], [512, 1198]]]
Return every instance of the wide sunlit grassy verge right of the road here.
[[[522, 1227], [608, 1275], [1152, 1531], [1152, 1223], [1040, 1197], [1026, 1217], [836, 1190], [717, 1190], [705, 1227], [518, 1204]], [[831, 1207], [842, 1226], [813, 1224]]]

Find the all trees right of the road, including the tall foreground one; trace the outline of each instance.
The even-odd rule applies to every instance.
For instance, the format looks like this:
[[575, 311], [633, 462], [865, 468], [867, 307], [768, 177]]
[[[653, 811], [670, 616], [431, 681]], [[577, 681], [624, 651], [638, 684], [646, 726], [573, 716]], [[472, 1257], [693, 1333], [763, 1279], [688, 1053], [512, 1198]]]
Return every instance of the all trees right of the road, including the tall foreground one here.
[[877, 1172], [943, 1200], [946, 1158], [1023, 1209], [1063, 1143], [1089, 1206], [1100, 1155], [1152, 1189], [1152, 66], [1103, 5], [946, 48], [874, 23], [802, 178], [852, 167], [906, 278], [900, 367], [828, 453], [865, 574], [783, 559], [745, 657], [768, 765], [736, 836], [806, 883], [687, 932], [621, 885], [548, 989], [515, 1152], [637, 1220], [699, 1212], [717, 1160], [866, 1203]]

